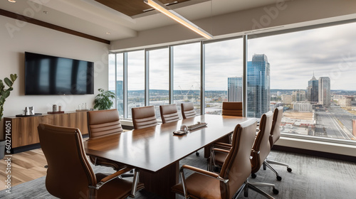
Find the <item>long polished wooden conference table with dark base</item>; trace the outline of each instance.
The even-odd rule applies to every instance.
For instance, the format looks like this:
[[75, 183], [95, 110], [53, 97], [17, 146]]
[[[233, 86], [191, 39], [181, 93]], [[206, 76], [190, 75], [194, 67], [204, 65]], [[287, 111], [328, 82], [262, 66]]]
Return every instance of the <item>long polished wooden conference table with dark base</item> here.
[[[205, 114], [155, 127], [125, 131], [121, 134], [88, 139], [86, 154], [107, 158], [135, 167], [140, 171], [140, 182], [148, 190], [164, 198], [175, 198], [171, 187], [179, 182], [179, 160], [229, 135], [247, 117]], [[206, 127], [175, 135], [182, 124], [206, 122]]]

